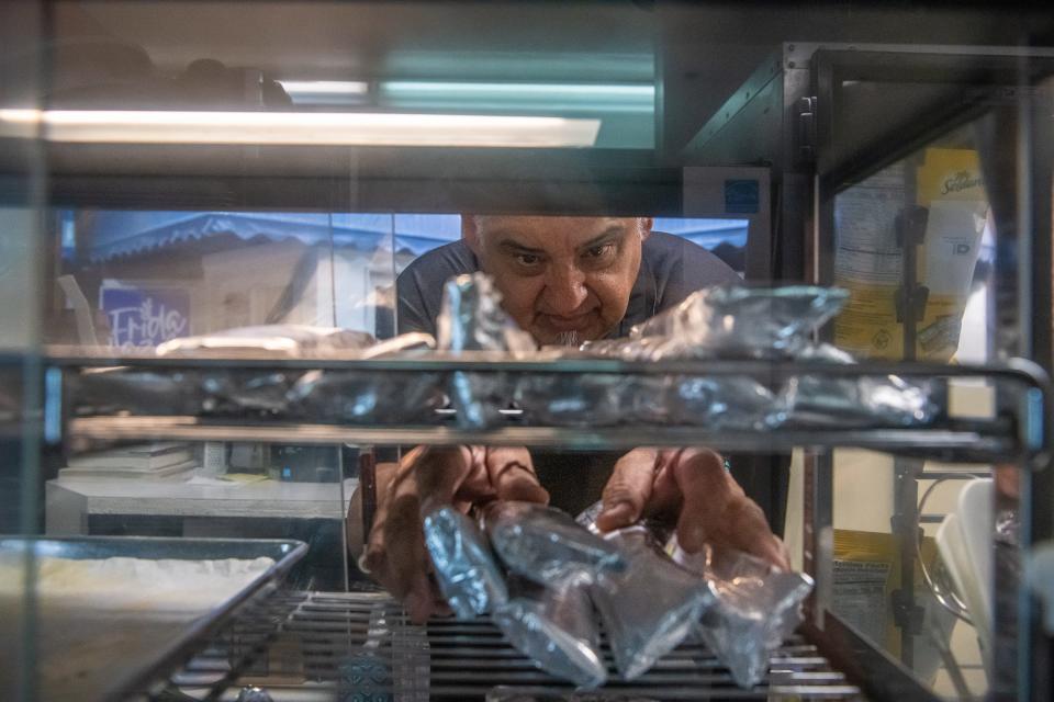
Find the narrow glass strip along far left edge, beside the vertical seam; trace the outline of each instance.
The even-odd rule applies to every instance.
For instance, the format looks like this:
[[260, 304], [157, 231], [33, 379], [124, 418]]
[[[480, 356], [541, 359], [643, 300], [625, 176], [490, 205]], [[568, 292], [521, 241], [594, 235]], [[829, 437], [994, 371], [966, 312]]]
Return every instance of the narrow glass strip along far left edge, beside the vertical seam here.
[[[41, 3], [0, 8], [0, 113], [40, 106]], [[43, 431], [40, 236], [45, 162], [38, 131], [0, 124], [0, 689], [37, 699], [37, 562], [10, 547], [41, 531]]]

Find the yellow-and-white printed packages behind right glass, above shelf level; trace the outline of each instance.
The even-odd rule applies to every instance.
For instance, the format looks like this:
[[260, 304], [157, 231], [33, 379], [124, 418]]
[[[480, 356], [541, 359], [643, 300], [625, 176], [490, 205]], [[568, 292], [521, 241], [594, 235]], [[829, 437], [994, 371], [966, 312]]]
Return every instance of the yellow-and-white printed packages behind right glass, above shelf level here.
[[[851, 297], [834, 320], [834, 343], [861, 358], [904, 355], [904, 326], [897, 320], [904, 250], [896, 228], [909, 201], [906, 170], [906, 162], [896, 163], [836, 201], [834, 283], [848, 288]], [[917, 327], [916, 358], [946, 362], [958, 347], [987, 223], [977, 152], [927, 149], [915, 182], [912, 200], [928, 210], [916, 275], [929, 290]]]

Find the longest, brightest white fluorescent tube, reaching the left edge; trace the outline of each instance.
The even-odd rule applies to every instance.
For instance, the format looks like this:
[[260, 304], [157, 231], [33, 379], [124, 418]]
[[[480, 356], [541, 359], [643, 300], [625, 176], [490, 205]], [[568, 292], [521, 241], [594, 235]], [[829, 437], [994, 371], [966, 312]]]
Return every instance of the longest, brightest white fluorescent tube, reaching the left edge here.
[[72, 144], [590, 147], [595, 118], [362, 112], [0, 110], [0, 134]]

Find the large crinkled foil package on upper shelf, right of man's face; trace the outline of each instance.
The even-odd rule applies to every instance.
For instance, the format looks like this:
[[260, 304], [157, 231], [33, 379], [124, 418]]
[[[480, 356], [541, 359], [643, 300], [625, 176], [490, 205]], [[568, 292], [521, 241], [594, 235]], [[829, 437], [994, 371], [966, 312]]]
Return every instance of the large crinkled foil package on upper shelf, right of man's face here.
[[809, 346], [814, 329], [844, 306], [849, 293], [836, 287], [718, 286], [686, 297], [677, 306], [633, 328], [643, 340], [630, 353], [642, 358], [793, 358]]

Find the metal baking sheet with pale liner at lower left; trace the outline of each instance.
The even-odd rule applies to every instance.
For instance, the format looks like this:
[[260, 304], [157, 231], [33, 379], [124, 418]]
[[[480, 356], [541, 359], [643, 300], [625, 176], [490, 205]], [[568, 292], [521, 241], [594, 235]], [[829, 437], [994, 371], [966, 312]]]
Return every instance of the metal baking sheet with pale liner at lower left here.
[[[0, 659], [13, 664], [22, 658], [19, 649], [30, 635], [36, 648], [36, 699], [60, 702], [126, 698], [178, 667], [235, 607], [267, 584], [283, 578], [306, 551], [304, 543], [292, 540], [0, 539]], [[60, 597], [44, 593], [29, 610], [35, 616], [26, 618], [29, 601], [22, 584], [30, 553], [36, 564], [127, 558], [156, 562], [150, 564], [155, 566], [166, 561], [179, 562], [186, 566], [184, 571], [194, 570], [194, 564], [204, 566], [205, 562], [227, 559], [270, 558], [273, 563], [249, 576], [245, 569], [232, 568], [239, 577], [250, 579], [214, 599], [201, 588], [195, 590], [194, 578], [187, 578], [181, 584], [186, 600], [173, 600], [172, 588], [168, 588], [166, 597], [158, 600], [162, 603], [156, 607], [150, 604], [149, 591], [130, 593], [127, 589], [114, 588], [108, 593], [101, 592], [96, 582], [94, 588], [86, 584], [85, 591], [78, 593], [64, 584]], [[125, 562], [116, 562], [119, 569], [110, 575], [120, 575], [121, 563]], [[135, 562], [126, 563], [131, 566]], [[165, 602], [175, 602], [176, 607]], [[0, 665], [0, 690], [15, 690], [21, 669], [22, 666]]]

